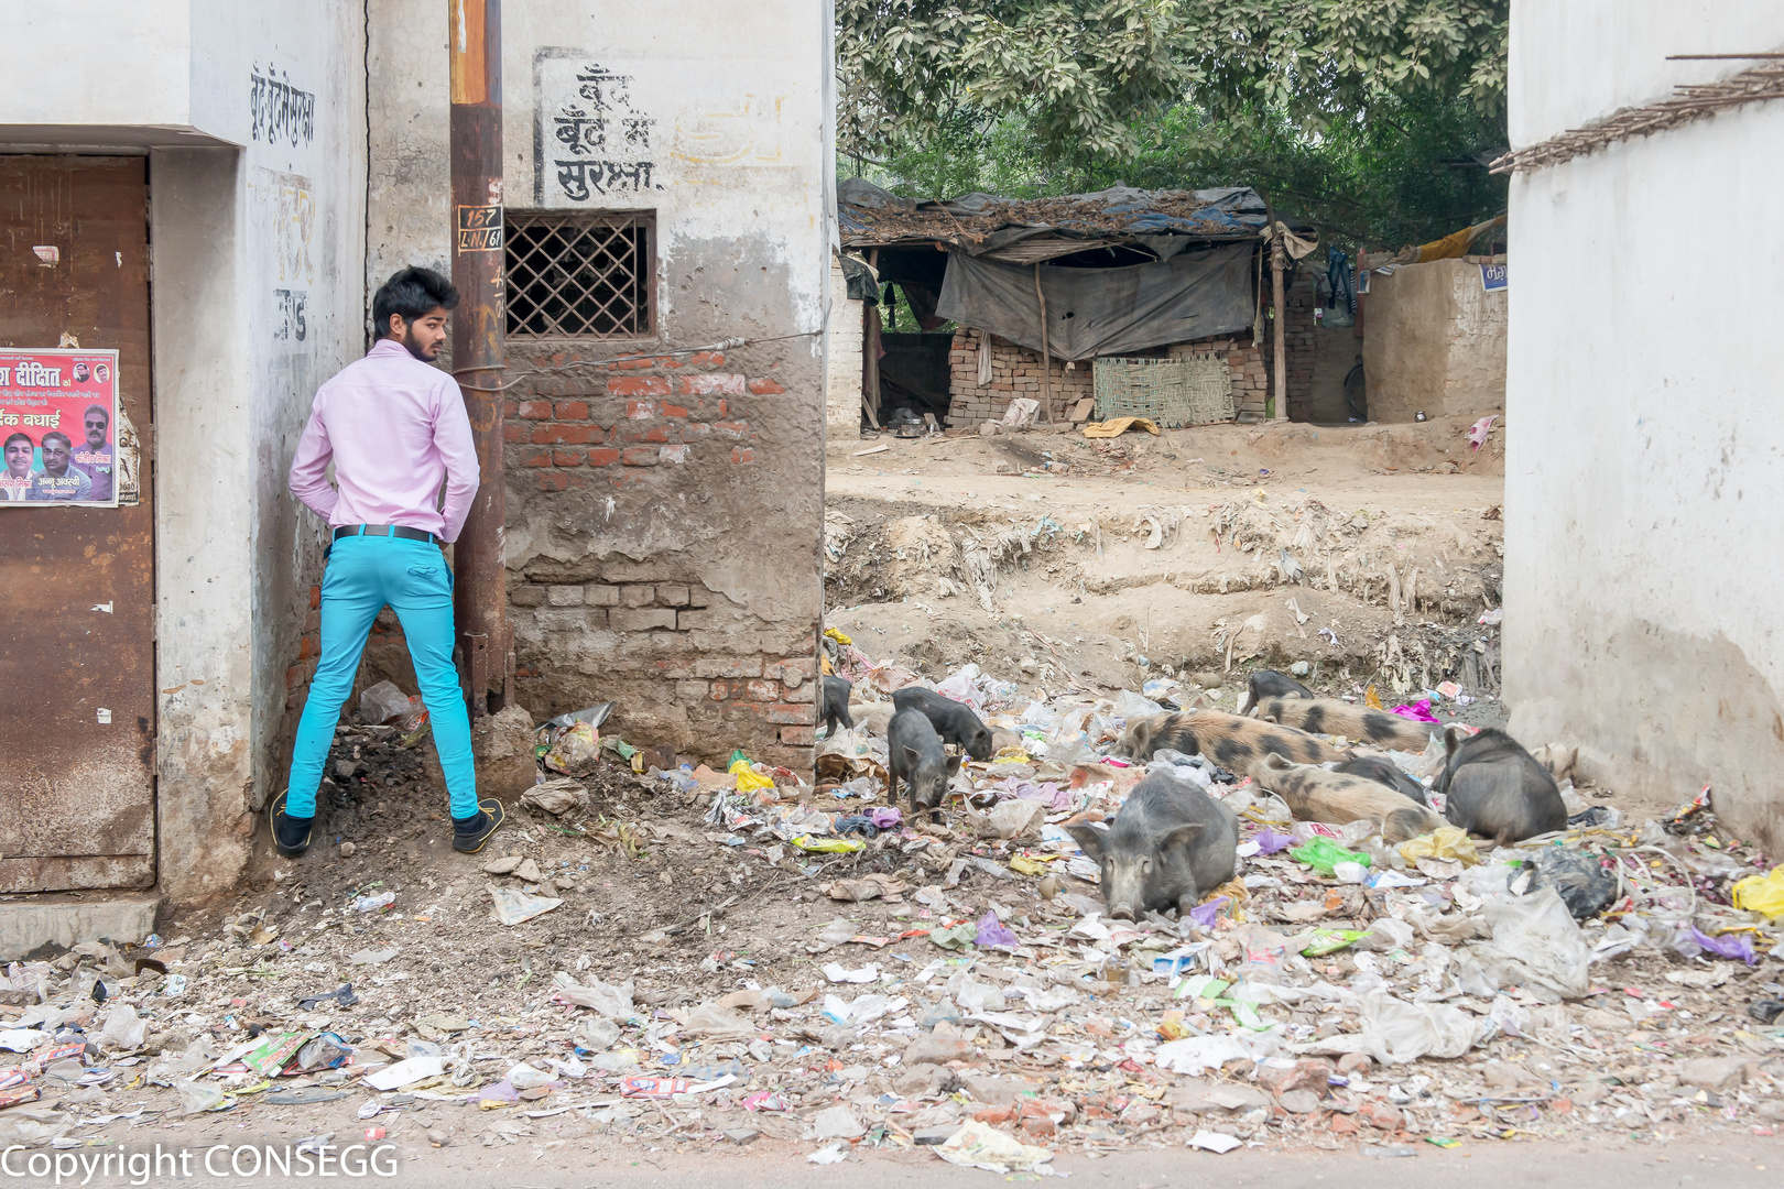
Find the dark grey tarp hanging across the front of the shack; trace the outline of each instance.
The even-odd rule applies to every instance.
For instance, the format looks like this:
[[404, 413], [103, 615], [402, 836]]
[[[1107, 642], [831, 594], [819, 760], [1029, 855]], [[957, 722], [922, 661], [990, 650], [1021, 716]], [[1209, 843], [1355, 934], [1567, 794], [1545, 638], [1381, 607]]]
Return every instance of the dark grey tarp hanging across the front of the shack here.
[[[1042, 264], [1047, 351], [1086, 360], [1251, 330], [1252, 246], [1217, 244], [1156, 264], [1081, 269]], [[1040, 349], [1035, 266], [949, 253], [937, 316]]]

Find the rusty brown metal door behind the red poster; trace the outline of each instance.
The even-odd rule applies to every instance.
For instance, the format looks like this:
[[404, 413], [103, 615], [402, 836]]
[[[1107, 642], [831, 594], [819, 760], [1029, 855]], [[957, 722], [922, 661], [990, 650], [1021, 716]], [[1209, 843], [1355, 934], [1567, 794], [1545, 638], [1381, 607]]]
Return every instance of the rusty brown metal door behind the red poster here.
[[[0, 346], [64, 335], [118, 351], [150, 458], [143, 157], [0, 155]], [[0, 506], [0, 891], [155, 882], [150, 471], [134, 506]]]

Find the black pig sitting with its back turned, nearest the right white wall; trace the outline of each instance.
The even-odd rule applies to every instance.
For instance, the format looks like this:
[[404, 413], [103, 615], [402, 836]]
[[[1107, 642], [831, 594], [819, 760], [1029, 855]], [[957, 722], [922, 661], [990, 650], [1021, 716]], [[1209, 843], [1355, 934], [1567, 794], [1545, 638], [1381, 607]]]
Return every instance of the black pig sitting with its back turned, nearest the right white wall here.
[[1566, 829], [1561, 788], [1515, 738], [1491, 727], [1466, 738], [1450, 727], [1443, 747], [1449, 758], [1436, 791], [1449, 797], [1443, 816], [1454, 825], [1500, 847]]

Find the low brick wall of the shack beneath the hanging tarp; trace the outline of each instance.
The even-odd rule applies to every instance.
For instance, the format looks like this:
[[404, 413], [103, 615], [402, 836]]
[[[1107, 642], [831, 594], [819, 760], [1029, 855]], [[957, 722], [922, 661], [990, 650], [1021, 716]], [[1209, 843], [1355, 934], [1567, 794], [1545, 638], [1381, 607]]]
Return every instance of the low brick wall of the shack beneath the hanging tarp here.
[[[1311, 326], [1311, 310], [1308, 321]], [[1293, 324], [1293, 323], [1290, 323]], [[979, 387], [979, 349], [987, 340], [978, 330], [956, 330], [949, 349], [949, 369], [953, 373], [949, 394], [953, 403], [947, 412], [951, 426], [976, 426], [983, 421], [999, 421], [1010, 401], [1017, 396], [1042, 399], [1040, 389], [1040, 351], [1017, 346], [1006, 339], [988, 335], [992, 351], [992, 383]], [[1263, 398], [1268, 387], [1268, 367], [1265, 357], [1252, 346], [1251, 335], [1220, 335], [1179, 342], [1170, 348], [1172, 357], [1210, 358], [1224, 355], [1233, 369], [1233, 401], [1236, 408], [1251, 408], [1263, 414]], [[1290, 357], [1293, 358], [1293, 357]], [[1311, 365], [1309, 365], [1311, 371]], [[1290, 385], [1293, 390], [1293, 385]], [[1095, 392], [1095, 380], [1090, 360], [1067, 371], [1063, 364], [1053, 364], [1053, 403], [1061, 412], [1081, 398]]]

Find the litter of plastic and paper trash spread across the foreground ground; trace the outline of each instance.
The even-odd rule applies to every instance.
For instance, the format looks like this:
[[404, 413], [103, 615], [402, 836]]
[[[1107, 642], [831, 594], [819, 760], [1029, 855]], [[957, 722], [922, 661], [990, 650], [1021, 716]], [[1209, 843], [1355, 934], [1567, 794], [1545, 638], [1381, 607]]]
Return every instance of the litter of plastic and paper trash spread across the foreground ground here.
[[[937, 693], [990, 747], [931, 820], [887, 799], [885, 699], [915, 676], [838, 636], [826, 663], [855, 726], [814, 772], [673, 763], [603, 736], [592, 708], [541, 729], [514, 845], [439, 868], [446, 886], [366, 879], [294, 895], [284, 923], [262, 909], [211, 938], [12, 963], [0, 1143], [260, 1112], [321, 1143], [767, 1137], [821, 1164], [933, 1146], [1045, 1175], [1060, 1152], [1136, 1143], [1395, 1155], [1784, 1123], [1784, 868], [1718, 825], [1707, 790], [1631, 822], [1563, 779], [1565, 829], [1388, 841], [1374, 818], [1297, 820], [1202, 754], [1119, 754], [1131, 724], [1192, 704], [1169, 677], [1029, 699], [967, 667]], [[1402, 708], [1424, 750], [1363, 749], [1433, 811], [1431, 720], [1458, 697]], [[655, 790], [651, 820], [598, 804], [591, 774], [610, 770]], [[1220, 806], [1235, 863], [1183, 906], [1115, 916], [1085, 841], [1161, 775]], [[651, 852], [680, 866], [603, 890]], [[714, 870], [737, 890], [701, 907]], [[655, 891], [687, 920], [599, 932]], [[783, 952], [753, 911], [789, 922]], [[450, 966], [489, 950], [507, 954], [492, 975]]]

